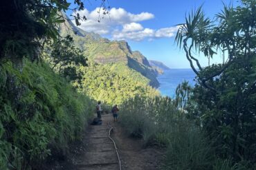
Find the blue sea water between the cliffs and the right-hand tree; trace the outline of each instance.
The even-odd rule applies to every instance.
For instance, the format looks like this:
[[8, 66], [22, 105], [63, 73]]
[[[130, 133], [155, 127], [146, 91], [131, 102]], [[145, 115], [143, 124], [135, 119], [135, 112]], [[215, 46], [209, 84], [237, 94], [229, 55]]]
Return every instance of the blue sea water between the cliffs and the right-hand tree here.
[[171, 69], [165, 70], [164, 74], [157, 77], [160, 87], [158, 90], [162, 96], [170, 96], [174, 98], [176, 87], [183, 81], [188, 81], [190, 85], [194, 86], [194, 74], [191, 69]]

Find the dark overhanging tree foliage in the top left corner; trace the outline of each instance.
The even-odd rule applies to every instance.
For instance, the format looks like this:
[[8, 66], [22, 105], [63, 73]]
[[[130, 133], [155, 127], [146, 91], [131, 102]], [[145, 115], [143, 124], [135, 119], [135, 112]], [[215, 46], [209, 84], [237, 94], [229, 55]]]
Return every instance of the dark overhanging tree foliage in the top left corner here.
[[[71, 1], [72, 2], [72, 1]], [[0, 7], [0, 59], [12, 60], [21, 66], [22, 59], [39, 59], [39, 52], [44, 43], [57, 41], [60, 37], [58, 28], [65, 19], [62, 12], [84, 9], [81, 0], [10, 0], [3, 1]], [[107, 14], [107, 7], [102, 0], [100, 10]], [[100, 15], [99, 15], [100, 17]], [[80, 25], [85, 16], [74, 14], [75, 23]]]

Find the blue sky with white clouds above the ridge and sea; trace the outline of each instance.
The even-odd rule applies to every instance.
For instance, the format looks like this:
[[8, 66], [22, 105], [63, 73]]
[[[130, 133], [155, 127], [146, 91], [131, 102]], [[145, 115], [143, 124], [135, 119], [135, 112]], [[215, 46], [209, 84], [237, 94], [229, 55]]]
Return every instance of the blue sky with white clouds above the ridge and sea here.
[[[190, 68], [185, 53], [174, 43], [176, 25], [184, 23], [185, 14], [201, 5], [212, 19], [221, 12], [223, 3], [237, 5], [236, 0], [109, 0], [105, 3], [110, 7], [108, 14], [102, 14], [101, 9], [99, 17], [101, 1], [86, 0], [85, 9], [79, 13], [87, 20], [82, 21], [80, 28], [110, 40], [125, 40], [131, 50], [138, 50], [147, 59], [161, 61], [170, 68]], [[202, 65], [208, 65], [203, 54], [195, 52], [195, 55]], [[217, 54], [210, 63], [221, 61], [221, 55]]]

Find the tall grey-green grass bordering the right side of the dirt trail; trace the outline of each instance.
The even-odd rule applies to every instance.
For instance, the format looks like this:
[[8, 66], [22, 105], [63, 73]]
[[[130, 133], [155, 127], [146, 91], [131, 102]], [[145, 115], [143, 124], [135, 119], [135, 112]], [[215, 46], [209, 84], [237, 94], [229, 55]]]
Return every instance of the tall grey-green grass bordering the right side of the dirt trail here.
[[166, 147], [163, 169], [210, 169], [214, 157], [203, 131], [167, 97], [127, 100], [120, 123], [145, 143]]

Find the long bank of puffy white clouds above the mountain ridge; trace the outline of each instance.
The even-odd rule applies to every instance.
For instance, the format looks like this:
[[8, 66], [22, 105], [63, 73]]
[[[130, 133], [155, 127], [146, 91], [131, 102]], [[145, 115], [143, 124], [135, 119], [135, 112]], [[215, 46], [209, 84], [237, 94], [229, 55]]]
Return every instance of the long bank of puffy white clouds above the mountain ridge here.
[[81, 22], [79, 27], [87, 32], [109, 34], [112, 36], [112, 39], [130, 39], [132, 41], [142, 41], [143, 39], [152, 41], [162, 37], [172, 37], [178, 30], [178, 27], [161, 28], [158, 30], [143, 28], [143, 25], [138, 22], [154, 19], [154, 14], [149, 12], [132, 14], [123, 8], [111, 8], [109, 14], [105, 15], [103, 12], [100, 8], [95, 8], [91, 12], [86, 9], [78, 12], [81, 17], [86, 16], [87, 18], [86, 21]]

